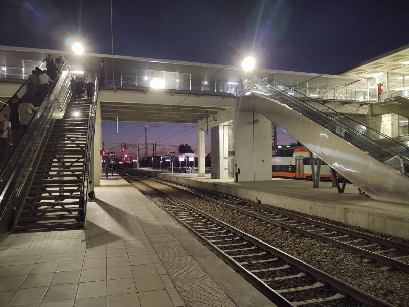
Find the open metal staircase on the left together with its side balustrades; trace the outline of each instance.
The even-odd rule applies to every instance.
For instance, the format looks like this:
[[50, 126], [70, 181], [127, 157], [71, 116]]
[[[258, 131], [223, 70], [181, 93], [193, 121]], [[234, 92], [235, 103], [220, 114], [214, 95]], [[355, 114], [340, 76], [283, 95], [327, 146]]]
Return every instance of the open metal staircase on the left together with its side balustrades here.
[[65, 64], [4, 160], [2, 232], [85, 227], [97, 89], [75, 101], [70, 79]]

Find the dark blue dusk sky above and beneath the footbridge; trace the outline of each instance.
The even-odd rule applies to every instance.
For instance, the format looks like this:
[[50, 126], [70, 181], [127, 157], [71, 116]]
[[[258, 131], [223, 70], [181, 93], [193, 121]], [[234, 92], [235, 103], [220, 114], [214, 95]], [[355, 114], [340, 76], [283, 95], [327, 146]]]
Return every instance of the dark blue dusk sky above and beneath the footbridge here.
[[[409, 1], [402, 0], [112, 3], [118, 55], [238, 65], [254, 53], [261, 68], [336, 74], [409, 43]], [[1, 0], [0, 12], [1, 45], [64, 50], [72, 36], [87, 52], [112, 51], [107, 0]], [[192, 125], [158, 125], [149, 128], [149, 143], [197, 147]], [[119, 126], [116, 134], [113, 123], [104, 123], [104, 141], [144, 142], [141, 123]]]

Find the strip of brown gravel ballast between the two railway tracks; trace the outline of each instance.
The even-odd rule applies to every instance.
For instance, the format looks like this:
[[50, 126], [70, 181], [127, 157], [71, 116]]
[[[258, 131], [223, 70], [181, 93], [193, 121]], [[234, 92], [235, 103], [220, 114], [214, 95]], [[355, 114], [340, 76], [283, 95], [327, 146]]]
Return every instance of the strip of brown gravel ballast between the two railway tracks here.
[[[382, 265], [365, 262], [363, 257], [331, 244], [305, 238], [276, 226], [267, 226], [224, 206], [150, 180], [146, 182], [384, 301], [396, 306], [407, 306], [409, 302], [409, 274], [393, 269], [383, 271]], [[138, 183], [135, 185], [140, 186]]]

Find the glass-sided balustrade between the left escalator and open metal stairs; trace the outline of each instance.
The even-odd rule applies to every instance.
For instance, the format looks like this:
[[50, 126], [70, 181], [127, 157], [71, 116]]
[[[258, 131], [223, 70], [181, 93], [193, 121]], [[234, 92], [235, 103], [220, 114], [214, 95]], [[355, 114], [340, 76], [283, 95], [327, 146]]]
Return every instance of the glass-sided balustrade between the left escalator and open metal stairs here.
[[15, 210], [18, 212], [21, 210], [20, 195], [29, 185], [28, 181], [37, 162], [38, 153], [45, 145], [44, 140], [47, 139], [54, 120], [59, 118], [61, 99], [66, 99], [62, 92], [69, 88], [67, 83], [70, 82], [70, 78], [68, 64], [65, 62], [0, 174], [1, 232], [11, 228]]

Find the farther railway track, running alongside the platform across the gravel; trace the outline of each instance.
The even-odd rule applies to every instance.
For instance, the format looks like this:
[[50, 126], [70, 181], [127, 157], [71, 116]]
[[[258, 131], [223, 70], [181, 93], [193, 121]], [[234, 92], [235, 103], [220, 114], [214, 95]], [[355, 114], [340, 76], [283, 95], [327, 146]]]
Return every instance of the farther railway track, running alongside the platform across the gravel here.
[[[141, 176], [139, 173], [135, 174]], [[409, 246], [405, 244], [313, 220], [312, 218], [292, 214], [269, 206], [254, 204], [229, 195], [180, 183], [155, 178], [149, 179], [180, 191], [185, 191], [196, 197], [229, 207], [235, 211], [247, 214], [256, 220], [274, 224], [322, 242], [331, 243], [342, 249], [375, 260], [385, 266], [409, 273]]]

